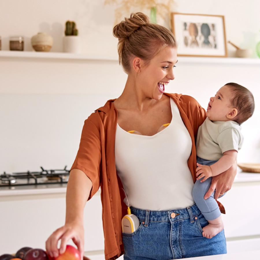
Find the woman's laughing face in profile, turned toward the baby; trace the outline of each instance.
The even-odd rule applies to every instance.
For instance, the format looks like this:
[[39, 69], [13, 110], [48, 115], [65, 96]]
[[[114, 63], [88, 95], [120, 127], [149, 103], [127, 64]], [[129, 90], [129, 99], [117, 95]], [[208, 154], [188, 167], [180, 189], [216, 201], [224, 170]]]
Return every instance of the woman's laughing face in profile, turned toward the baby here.
[[147, 97], [159, 100], [165, 86], [173, 80], [177, 63], [177, 48], [165, 47], [144, 67], [138, 75], [138, 85]]

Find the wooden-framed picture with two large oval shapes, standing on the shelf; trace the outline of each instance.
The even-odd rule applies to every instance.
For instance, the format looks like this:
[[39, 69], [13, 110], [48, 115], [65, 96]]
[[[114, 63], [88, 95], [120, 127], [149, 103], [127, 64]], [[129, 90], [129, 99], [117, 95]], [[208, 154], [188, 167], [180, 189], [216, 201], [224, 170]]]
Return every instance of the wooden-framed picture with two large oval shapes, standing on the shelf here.
[[179, 56], [227, 57], [224, 16], [172, 13]]

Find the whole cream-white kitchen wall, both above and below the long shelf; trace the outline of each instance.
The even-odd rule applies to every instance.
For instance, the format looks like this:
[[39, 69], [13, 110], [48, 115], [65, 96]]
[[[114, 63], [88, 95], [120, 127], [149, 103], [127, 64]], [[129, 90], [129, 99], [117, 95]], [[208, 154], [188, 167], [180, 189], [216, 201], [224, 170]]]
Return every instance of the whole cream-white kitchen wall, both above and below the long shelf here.
[[[174, 11], [224, 15], [227, 40], [254, 48], [260, 40], [260, 2], [246, 4], [179, 0]], [[25, 51], [33, 51], [30, 38], [42, 31], [54, 38], [51, 52], [61, 52], [64, 24], [70, 19], [77, 23], [82, 53], [117, 57], [114, 8], [102, 0], [1, 0], [2, 49], [8, 50], [9, 36], [23, 35]], [[228, 49], [233, 56], [234, 48]], [[84, 119], [107, 99], [116, 98], [126, 79], [116, 61], [0, 57], [0, 73], [0, 173], [70, 167]], [[238, 161], [259, 162], [259, 65], [184, 64], [180, 57], [176, 79], [167, 91], [190, 94], [206, 107], [209, 97], [230, 81], [248, 87], [256, 99], [253, 118], [243, 124], [245, 143]]]

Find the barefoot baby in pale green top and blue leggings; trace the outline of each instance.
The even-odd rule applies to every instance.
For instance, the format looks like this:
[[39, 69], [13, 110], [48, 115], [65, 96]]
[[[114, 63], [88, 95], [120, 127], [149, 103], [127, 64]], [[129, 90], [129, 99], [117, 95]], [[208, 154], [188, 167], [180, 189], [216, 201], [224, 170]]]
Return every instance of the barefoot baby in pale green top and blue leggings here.
[[[210, 98], [207, 118], [198, 129], [196, 141], [197, 181], [192, 195], [206, 220], [203, 236], [211, 238], [224, 228], [214, 192], [205, 200], [211, 177], [229, 169], [237, 159], [242, 146], [241, 124], [250, 118], [255, 109], [252, 93], [236, 83], [227, 83]], [[220, 194], [222, 197], [224, 194]]]

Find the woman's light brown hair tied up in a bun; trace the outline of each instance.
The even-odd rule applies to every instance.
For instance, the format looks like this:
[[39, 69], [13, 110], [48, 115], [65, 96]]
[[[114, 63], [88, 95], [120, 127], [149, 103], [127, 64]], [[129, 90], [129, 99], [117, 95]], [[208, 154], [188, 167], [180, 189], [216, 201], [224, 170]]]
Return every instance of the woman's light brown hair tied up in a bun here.
[[131, 70], [131, 60], [139, 57], [149, 62], [164, 47], [177, 47], [171, 31], [162, 25], [151, 23], [148, 16], [132, 13], [113, 29], [113, 35], [118, 38], [119, 64], [126, 73]]

